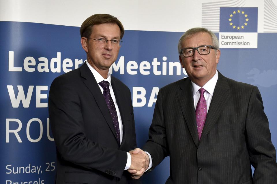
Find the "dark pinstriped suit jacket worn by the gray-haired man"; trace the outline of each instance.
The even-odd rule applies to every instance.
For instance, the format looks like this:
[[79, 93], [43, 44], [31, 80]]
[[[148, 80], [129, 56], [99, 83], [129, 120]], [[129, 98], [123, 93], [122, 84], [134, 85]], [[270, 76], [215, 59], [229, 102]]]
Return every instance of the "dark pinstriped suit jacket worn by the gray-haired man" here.
[[170, 155], [168, 184], [277, 183], [276, 151], [258, 88], [220, 73], [200, 141], [185, 78], [160, 89], [143, 150], [153, 168]]

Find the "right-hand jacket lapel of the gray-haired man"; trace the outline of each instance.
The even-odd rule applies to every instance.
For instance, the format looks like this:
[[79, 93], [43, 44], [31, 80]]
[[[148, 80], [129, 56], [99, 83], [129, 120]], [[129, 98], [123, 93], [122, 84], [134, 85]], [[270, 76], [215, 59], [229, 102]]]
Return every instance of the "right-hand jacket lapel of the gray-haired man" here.
[[206, 122], [203, 128], [201, 139], [209, 133], [215, 122], [217, 121], [224, 105], [231, 96], [230, 87], [226, 77], [218, 72], [218, 80], [214, 88], [214, 94], [207, 114]]

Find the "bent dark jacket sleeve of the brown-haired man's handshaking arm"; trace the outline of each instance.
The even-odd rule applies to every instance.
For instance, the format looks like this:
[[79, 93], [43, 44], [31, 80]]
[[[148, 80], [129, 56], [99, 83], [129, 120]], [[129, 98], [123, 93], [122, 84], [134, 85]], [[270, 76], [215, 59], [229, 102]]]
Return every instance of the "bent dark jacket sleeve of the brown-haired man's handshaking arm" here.
[[63, 160], [75, 165], [121, 177], [127, 153], [87, 139], [80, 100], [70, 84], [65, 77], [58, 77], [49, 91], [50, 124], [58, 152]]

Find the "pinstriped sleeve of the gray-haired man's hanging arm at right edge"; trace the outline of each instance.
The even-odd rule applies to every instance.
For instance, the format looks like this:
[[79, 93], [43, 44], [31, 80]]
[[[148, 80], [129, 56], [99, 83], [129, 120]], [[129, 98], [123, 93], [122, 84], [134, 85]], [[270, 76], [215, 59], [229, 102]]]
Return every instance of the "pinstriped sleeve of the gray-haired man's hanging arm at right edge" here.
[[276, 151], [257, 87], [254, 87], [248, 104], [246, 134], [250, 162], [255, 169], [254, 184], [277, 183]]

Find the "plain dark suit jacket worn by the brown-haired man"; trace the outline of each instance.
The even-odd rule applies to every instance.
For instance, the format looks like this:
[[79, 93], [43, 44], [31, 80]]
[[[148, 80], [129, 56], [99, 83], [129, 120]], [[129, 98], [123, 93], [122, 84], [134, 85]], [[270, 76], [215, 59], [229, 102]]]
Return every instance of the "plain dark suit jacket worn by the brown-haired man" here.
[[120, 146], [103, 94], [86, 63], [51, 84], [49, 117], [57, 146], [57, 184], [114, 184], [131, 180], [124, 171], [126, 152], [136, 148], [131, 94], [114, 77], [111, 85], [123, 124]]

